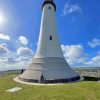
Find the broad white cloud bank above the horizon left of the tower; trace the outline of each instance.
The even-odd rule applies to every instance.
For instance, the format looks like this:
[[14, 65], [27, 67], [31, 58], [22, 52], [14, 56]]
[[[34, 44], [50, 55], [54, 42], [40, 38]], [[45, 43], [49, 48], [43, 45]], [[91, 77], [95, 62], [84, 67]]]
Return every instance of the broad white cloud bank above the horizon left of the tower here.
[[0, 71], [26, 68], [33, 57], [33, 51], [20, 47], [16, 52], [8, 50], [6, 44], [0, 44]]

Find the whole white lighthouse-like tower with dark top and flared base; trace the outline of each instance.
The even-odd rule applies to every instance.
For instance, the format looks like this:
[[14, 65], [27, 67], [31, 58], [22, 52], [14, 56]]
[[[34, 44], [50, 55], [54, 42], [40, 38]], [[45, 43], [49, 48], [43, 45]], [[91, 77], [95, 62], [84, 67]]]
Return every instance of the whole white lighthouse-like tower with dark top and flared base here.
[[80, 76], [64, 59], [56, 30], [56, 5], [53, 0], [44, 0], [42, 10], [37, 51], [32, 63], [19, 79], [33, 83], [65, 83], [80, 80]]

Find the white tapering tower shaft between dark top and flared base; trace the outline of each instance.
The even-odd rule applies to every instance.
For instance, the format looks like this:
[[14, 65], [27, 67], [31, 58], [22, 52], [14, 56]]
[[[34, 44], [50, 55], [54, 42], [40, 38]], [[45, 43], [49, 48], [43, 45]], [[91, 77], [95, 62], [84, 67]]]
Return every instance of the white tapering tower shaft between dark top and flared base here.
[[[49, 9], [51, 7], [51, 9]], [[50, 40], [52, 36], [52, 40]], [[56, 18], [53, 5], [43, 7], [39, 41], [35, 58], [60, 57], [63, 58], [56, 30]]]

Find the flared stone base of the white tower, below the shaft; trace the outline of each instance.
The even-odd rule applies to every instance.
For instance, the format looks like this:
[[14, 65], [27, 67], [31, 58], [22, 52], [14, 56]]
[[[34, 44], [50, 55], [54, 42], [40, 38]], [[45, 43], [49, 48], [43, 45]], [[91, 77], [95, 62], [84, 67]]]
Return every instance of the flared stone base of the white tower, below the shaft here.
[[64, 58], [34, 58], [18, 79], [29, 83], [67, 83], [80, 80]]

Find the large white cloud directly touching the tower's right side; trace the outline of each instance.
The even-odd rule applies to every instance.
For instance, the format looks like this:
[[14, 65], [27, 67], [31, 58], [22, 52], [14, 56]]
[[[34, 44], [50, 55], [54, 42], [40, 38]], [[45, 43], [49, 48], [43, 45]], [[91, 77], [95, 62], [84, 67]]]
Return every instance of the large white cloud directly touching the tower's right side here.
[[82, 45], [61, 45], [64, 57], [71, 65], [83, 65], [87, 54], [84, 52]]

